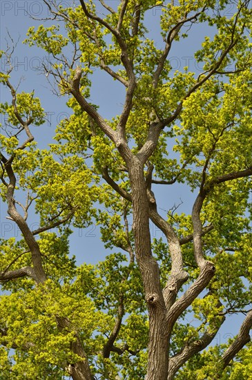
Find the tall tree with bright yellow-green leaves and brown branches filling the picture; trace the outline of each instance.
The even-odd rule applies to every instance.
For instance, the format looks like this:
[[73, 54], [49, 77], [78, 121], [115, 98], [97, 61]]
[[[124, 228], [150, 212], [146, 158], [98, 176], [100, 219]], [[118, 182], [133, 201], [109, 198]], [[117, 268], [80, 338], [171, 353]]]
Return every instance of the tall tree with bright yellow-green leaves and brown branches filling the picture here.
[[[37, 149], [43, 108], [12, 84], [12, 51], [1, 53], [12, 96], [1, 104], [1, 196], [22, 238], [1, 240], [0, 379], [249, 379], [249, 1], [231, 17], [228, 1], [43, 3], [57, 25], [30, 28], [26, 43], [52, 57], [43, 69], [72, 115]], [[157, 42], [145, 22], [155, 7]], [[195, 52], [204, 71], [173, 73], [171, 47], [197, 23], [214, 31]], [[125, 88], [111, 120], [90, 101], [97, 69]], [[178, 213], [168, 196], [162, 216], [157, 189], [177, 183], [193, 191], [192, 211]], [[114, 253], [77, 266], [70, 228], [93, 220]], [[164, 238], [151, 238], [150, 220]], [[238, 335], [211, 345], [234, 313], [244, 314]]]

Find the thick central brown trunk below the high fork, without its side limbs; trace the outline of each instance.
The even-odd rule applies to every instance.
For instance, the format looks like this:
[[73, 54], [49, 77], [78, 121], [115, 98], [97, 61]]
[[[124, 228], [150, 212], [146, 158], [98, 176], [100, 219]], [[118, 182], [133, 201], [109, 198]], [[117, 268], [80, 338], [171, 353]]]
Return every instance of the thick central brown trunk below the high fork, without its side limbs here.
[[144, 166], [137, 158], [128, 165], [133, 199], [135, 255], [142, 274], [149, 314], [148, 372], [146, 380], [166, 380], [168, 374], [168, 328], [159, 269], [151, 253], [148, 196]]

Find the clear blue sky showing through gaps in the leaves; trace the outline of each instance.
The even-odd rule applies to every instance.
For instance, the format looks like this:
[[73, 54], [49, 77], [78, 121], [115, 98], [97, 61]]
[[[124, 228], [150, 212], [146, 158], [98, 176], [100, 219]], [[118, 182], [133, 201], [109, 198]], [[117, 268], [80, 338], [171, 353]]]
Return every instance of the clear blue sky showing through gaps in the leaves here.
[[[110, 6], [115, 6], [116, 0], [107, 1]], [[59, 1], [62, 6], [70, 6], [72, 1]], [[78, 1], [76, 1], [78, 3]], [[98, 1], [97, 1], [98, 3]], [[37, 70], [37, 66], [41, 66], [45, 62], [47, 55], [42, 50], [32, 47], [29, 48], [21, 42], [26, 38], [26, 31], [30, 26], [39, 26], [44, 21], [35, 21], [31, 19], [28, 14], [35, 18], [45, 17], [48, 15], [48, 10], [41, 0], [37, 1], [23, 1], [23, 0], [1, 0], [1, 49], [6, 48], [6, 35], [7, 30], [14, 41], [18, 41], [17, 47], [12, 55], [13, 64], [15, 66], [12, 71], [11, 82], [16, 86], [21, 79], [19, 86], [20, 91], [35, 90], [35, 96], [40, 97], [41, 104], [47, 113], [46, 123], [40, 127], [34, 127], [32, 133], [35, 135], [35, 140], [39, 142], [39, 147], [45, 149], [55, 134], [55, 127], [64, 117], [70, 114], [70, 110], [66, 107], [66, 98], [57, 97], [52, 94], [52, 89], [48, 84], [46, 77], [43, 73]], [[233, 6], [233, 4], [232, 4]], [[226, 12], [232, 12], [233, 8], [228, 8]], [[162, 43], [160, 39], [157, 26], [157, 19], [159, 17], [158, 10], [151, 10], [147, 17], [146, 23], [150, 28], [150, 35], [156, 39], [157, 44]], [[184, 66], [188, 66], [189, 70], [200, 72], [200, 67], [195, 64], [193, 53], [204, 40], [204, 35], [209, 35], [213, 31], [206, 26], [195, 26], [190, 32], [190, 38], [180, 41], [175, 44], [170, 53], [170, 61], [173, 70], [180, 70]], [[10, 39], [9, 39], [10, 42]], [[1, 70], [6, 68], [5, 63], [2, 62]], [[10, 95], [1, 89], [0, 101], [4, 102], [10, 100]], [[122, 103], [124, 100], [124, 87], [113, 81], [106, 73], [97, 71], [93, 78], [91, 88], [91, 100], [95, 104], [99, 104], [99, 111], [105, 118], [110, 118], [122, 110]], [[153, 187], [156, 191], [155, 187]], [[157, 189], [157, 199], [159, 212], [165, 216], [166, 211], [171, 209], [173, 205], [178, 205], [180, 200], [183, 201], [179, 211], [190, 212], [195, 196], [184, 189], [184, 186], [177, 185], [173, 187], [159, 187]], [[20, 236], [20, 233], [10, 220], [6, 219], [6, 207], [1, 204], [1, 237], [9, 238], [10, 236]], [[30, 223], [35, 223], [37, 220], [32, 219]], [[155, 238], [162, 236], [154, 225], [151, 224], [151, 234]], [[99, 240], [99, 229], [97, 226], [92, 225], [86, 229], [76, 229], [70, 238], [70, 251], [77, 256], [77, 262], [81, 263], [97, 263], [97, 261], [104, 258], [105, 254], [110, 251], [104, 249], [104, 245]], [[238, 318], [242, 320], [242, 318]], [[229, 334], [235, 334], [238, 331], [240, 323], [238, 319], [233, 323], [226, 323], [224, 329], [217, 334], [213, 343], [220, 343], [226, 340]], [[217, 342], [216, 342], [217, 340]]]

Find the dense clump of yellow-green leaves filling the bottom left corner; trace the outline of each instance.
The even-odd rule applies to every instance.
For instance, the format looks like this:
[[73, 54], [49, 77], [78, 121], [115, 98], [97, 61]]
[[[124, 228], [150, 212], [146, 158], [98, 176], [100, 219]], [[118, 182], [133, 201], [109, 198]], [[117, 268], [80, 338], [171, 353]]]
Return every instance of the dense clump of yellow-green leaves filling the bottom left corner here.
[[[12, 372], [17, 376], [23, 373], [28, 379], [46, 378], [50, 374], [60, 378], [65, 374], [61, 370], [64, 363], [78, 360], [70, 350], [75, 333], [81, 332], [81, 338], [91, 349], [93, 330], [99, 330], [104, 323], [90, 299], [85, 296], [80, 299], [77, 293], [72, 294], [70, 285], [59, 287], [52, 281], [37, 289], [2, 296], [1, 305], [1, 324], [12, 325], [3, 339], [8, 340], [9, 347], [19, 347], [11, 358]], [[57, 319], [66, 315], [69, 329], [61, 331]]]

